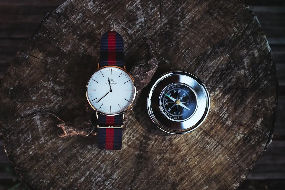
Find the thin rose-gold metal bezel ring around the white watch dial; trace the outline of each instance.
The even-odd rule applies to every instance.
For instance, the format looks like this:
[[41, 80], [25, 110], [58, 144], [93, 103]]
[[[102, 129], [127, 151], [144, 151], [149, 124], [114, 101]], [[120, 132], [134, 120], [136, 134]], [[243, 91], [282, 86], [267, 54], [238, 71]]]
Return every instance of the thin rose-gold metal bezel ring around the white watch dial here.
[[[96, 72], [98, 72], [99, 70], [104, 69], [104, 68], [106, 68], [106, 67], [119, 68], [119, 69], [125, 71], [125, 72], [129, 75], [129, 77], [131, 77], [131, 80], [132, 80], [133, 83], [134, 83], [134, 97], [133, 97], [133, 99], [132, 99], [130, 105], [129, 105], [126, 109], [124, 109], [123, 111], [120, 111], [119, 113], [115, 113], [115, 114], [106, 114], [106, 113], [103, 113], [103, 112], [101, 112], [100, 110], [96, 109], [96, 108], [90, 103], [90, 100], [89, 100], [88, 94], [87, 94], [87, 86], [88, 86], [89, 81], [92, 79], [92, 76], [94, 75], [94, 73], [96, 73]], [[125, 67], [124, 67], [124, 68], [125, 68]], [[115, 116], [115, 115], [120, 115], [120, 114], [124, 113], [126, 110], [128, 110], [129, 108], [132, 107], [133, 102], [134, 102], [135, 97], [136, 97], [135, 81], [134, 81], [133, 77], [130, 75], [130, 73], [129, 73], [128, 71], [126, 71], [124, 68], [121, 68], [121, 67], [118, 67], [118, 66], [114, 66], [114, 65], [107, 65], [107, 66], [100, 67], [100, 68], [98, 68], [98, 69], [92, 74], [92, 76], [90, 77], [90, 79], [87, 81], [87, 83], [86, 83], [86, 90], [85, 90], [87, 101], [88, 101], [89, 105], [90, 105], [95, 111], [97, 111], [98, 113], [100, 113], [100, 114], [102, 114], [102, 115], [106, 115], [106, 116]]]

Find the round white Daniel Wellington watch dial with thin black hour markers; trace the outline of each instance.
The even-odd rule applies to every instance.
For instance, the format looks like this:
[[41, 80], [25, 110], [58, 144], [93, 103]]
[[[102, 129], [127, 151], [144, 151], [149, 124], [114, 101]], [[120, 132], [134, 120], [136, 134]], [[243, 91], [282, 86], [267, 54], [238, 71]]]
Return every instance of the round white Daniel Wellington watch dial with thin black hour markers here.
[[90, 105], [104, 115], [122, 113], [135, 99], [133, 78], [125, 70], [106, 66], [97, 70], [86, 89]]

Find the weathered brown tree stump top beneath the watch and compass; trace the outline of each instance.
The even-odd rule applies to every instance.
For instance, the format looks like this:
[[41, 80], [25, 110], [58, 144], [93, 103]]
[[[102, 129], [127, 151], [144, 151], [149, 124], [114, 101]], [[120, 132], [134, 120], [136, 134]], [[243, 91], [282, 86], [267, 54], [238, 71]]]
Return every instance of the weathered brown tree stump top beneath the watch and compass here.
[[[170, 135], [146, 111], [149, 86], [129, 113], [121, 151], [97, 137], [59, 137], [58, 119], [86, 115], [86, 82], [108, 31], [125, 41], [127, 68], [153, 40], [159, 67], [198, 75], [211, 96], [197, 130]], [[1, 84], [2, 133], [16, 171], [32, 189], [236, 189], [271, 141], [276, 107], [272, 52], [240, 1], [71, 0], [46, 18]], [[73, 120], [72, 120], [73, 119]]]

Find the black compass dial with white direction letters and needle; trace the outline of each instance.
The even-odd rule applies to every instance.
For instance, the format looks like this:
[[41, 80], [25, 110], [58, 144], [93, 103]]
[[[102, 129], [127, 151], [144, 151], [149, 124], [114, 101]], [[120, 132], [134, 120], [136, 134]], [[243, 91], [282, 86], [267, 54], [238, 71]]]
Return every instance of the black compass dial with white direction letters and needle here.
[[170, 120], [187, 120], [195, 112], [196, 107], [197, 99], [194, 92], [181, 83], [168, 86], [160, 97], [160, 109]]

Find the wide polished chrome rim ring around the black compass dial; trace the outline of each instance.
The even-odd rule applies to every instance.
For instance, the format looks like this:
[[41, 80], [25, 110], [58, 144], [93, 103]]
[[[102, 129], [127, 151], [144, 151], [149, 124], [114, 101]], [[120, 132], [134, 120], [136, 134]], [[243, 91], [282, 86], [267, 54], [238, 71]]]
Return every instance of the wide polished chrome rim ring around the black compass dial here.
[[[192, 116], [181, 121], [166, 118], [159, 103], [163, 89], [174, 83], [190, 87], [197, 98], [196, 110]], [[196, 75], [185, 71], [171, 71], [160, 76], [152, 85], [148, 94], [147, 109], [151, 120], [161, 130], [171, 134], [185, 134], [195, 130], [205, 121], [210, 109], [210, 96], [206, 85]]]

